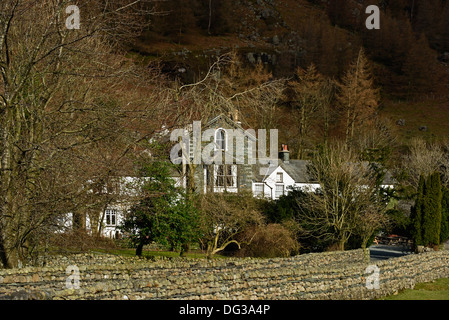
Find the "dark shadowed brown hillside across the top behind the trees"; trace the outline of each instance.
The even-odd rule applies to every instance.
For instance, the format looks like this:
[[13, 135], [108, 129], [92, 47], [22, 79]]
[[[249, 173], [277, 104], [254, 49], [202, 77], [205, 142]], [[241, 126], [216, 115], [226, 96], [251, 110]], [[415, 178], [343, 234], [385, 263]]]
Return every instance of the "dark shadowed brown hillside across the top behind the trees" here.
[[129, 51], [144, 63], [160, 61], [163, 72], [183, 82], [197, 80], [232, 49], [248, 64], [264, 63], [276, 78], [314, 63], [340, 79], [363, 46], [381, 89], [379, 116], [394, 124], [399, 140], [445, 137], [449, 4], [374, 2], [381, 8], [380, 30], [364, 27], [363, 0], [214, 0], [211, 7], [171, 0], [158, 4], [160, 14]]

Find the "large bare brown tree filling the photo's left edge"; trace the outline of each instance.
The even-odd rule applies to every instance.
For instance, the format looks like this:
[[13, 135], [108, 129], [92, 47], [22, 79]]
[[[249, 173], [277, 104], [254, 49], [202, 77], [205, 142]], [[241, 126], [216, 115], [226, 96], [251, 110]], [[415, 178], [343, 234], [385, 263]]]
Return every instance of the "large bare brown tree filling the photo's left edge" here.
[[0, 4], [0, 258], [5, 267], [27, 261], [49, 221], [83, 210], [86, 182], [111, 171], [92, 165], [95, 144], [131, 137], [120, 125], [132, 123], [124, 118], [137, 116], [133, 110], [145, 112], [143, 96], [136, 99], [127, 90], [139, 90], [148, 75], [138, 76], [133, 63], [111, 46], [137, 32], [137, 18], [120, 21], [137, 17], [143, 1], [80, 2], [78, 30], [66, 27], [69, 4], [74, 3]]

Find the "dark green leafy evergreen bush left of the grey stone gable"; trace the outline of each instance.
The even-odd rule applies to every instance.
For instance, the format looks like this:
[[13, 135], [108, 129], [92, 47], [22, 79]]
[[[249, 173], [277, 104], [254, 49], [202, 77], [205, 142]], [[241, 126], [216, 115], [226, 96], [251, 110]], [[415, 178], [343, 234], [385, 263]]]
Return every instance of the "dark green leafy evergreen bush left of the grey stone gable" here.
[[153, 162], [144, 170], [143, 199], [125, 217], [121, 230], [141, 255], [144, 245], [158, 242], [180, 249], [197, 239], [199, 218], [193, 201], [171, 178], [168, 162]]

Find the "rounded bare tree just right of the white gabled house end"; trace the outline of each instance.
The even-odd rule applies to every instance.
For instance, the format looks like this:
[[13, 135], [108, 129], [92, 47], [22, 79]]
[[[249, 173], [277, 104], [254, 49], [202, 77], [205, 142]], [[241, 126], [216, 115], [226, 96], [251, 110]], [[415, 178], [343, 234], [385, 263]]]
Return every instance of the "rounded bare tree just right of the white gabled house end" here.
[[303, 209], [299, 212], [299, 221], [303, 231], [332, 241], [339, 250], [344, 250], [357, 228], [365, 227], [361, 217], [373, 210], [380, 212], [385, 206], [377, 198], [376, 180], [369, 166], [360, 162], [358, 155], [342, 143], [333, 143], [318, 152], [309, 170], [319, 188], [301, 200]]

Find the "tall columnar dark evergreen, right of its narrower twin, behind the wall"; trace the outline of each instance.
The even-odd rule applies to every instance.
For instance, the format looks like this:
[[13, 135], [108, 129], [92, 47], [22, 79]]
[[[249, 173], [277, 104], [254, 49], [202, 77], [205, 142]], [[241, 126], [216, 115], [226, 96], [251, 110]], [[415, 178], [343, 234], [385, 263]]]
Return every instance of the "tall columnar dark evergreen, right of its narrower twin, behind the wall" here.
[[432, 246], [440, 243], [442, 193], [439, 173], [430, 175], [426, 185], [422, 215], [422, 241], [425, 246]]

